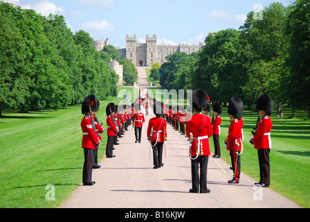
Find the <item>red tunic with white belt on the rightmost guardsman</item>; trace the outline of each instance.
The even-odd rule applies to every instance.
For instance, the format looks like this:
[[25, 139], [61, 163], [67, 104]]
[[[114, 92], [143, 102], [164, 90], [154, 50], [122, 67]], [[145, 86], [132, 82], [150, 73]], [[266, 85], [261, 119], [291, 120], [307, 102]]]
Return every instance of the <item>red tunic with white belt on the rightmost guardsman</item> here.
[[273, 122], [270, 117], [264, 116], [259, 120], [256, 134], [251, 139], [255, 143], [254, 148], [271, 148], [271, 128], [273, 128]]

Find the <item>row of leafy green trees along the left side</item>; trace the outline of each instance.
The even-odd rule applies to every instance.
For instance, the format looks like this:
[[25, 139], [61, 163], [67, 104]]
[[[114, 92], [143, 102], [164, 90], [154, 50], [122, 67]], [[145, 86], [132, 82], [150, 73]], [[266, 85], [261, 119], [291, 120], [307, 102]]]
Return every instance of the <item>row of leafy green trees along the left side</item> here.
[[118, 76], [109, 60], [89, 33], [73, 34], [64, 17], [0, 1], [0, 115], [8, 108], [66, 107], [89, 94], [115, 96]]

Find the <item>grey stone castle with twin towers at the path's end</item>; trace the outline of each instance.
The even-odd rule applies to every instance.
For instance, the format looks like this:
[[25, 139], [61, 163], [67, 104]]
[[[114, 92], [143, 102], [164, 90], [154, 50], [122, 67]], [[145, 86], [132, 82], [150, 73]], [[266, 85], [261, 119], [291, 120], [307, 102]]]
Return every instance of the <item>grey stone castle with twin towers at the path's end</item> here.
[[[110, 44], [108, 39], [106, 41], [95, 41], [94, 47], [97, 51], [103, 49], [104, 46]], [[120, 58], [127, 58], [131, 60], [136, 67], [151, 67], [155, 62], [163, 64], [167, 62], [165, 59], [172, 53], [194, 53], [203, 49], [205, 43], [199, 45], [179, 44], [179, 45], [158, 45], [157, 36], [149, 37], [147, 35], [145, 43], [138, 43], [136, 35], [129, 37], [126, 35], [126, 48], [116, 48], [120, 52]]]

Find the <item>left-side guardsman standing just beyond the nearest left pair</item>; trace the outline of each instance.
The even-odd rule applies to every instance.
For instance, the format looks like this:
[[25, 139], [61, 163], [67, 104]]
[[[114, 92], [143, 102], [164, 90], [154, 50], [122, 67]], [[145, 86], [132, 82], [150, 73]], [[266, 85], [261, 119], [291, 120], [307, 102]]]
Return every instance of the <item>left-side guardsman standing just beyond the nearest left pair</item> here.
[[116, 137], [116, 133], [118, 133], [118, 126], [115, 125], [114, 119], [113, 119], [113, 114], [115, 110], [116, 110], [116, 106], [114, 105], [114, 103], [109, 103], [107, 105], [107, 109], [106, 109], [107, 126], [108, 126], [108, 130], [107, 130], [108, 140], [107, 140], [107, 150], [106, 150], [107, 158], [116, 157], [115, 155], [113, 155], [114, 138]]

